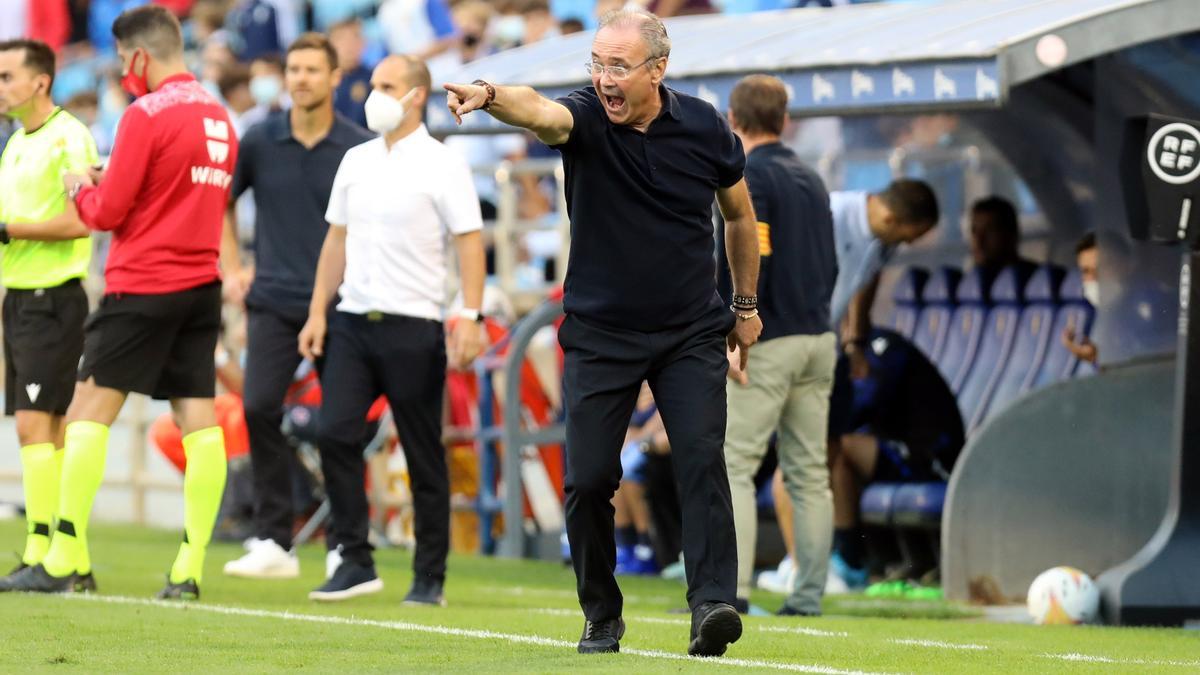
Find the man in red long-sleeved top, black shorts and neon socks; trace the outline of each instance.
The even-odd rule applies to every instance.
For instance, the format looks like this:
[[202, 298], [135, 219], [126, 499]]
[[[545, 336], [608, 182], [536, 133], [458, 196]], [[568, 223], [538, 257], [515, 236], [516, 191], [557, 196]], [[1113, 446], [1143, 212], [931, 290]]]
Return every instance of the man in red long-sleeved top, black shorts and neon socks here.
[[[199, 596], [224, 490], [224, 438], [212, 407], [221, 325], [217, 264], [238, 139], [221, 103], [184, 65], [179, 22], [142, 6], [113, 23], [125, 112], [103, 174], [66, 175], [79, 217], [113, 233], [106, 294], [88, 319], [67, 410], [60, 521], [50, 550], [0, 590], [64, 591], [85, 550], [108, 429], [130, 392], [169, 399], [184, 432], [184, 543], [160, 598]], [[95, 184], [94, 184], [95, 183]]]

